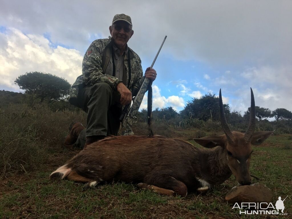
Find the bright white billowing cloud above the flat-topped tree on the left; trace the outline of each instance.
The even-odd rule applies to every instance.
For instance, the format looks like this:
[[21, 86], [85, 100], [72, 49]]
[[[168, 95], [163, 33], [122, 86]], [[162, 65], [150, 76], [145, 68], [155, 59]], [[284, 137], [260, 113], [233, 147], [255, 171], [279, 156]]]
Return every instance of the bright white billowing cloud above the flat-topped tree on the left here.
[[83, 56], [75, 49], [53, 48], [44, 36], [25, 35], [15, 28], [8, 28], [0, 36], [3, 45], [0, 48], [0, 76], [4, 78], [0, 85], [18, 90], [13, 81], [32, 71], [58, 75], [71, 84], [82, 74]]

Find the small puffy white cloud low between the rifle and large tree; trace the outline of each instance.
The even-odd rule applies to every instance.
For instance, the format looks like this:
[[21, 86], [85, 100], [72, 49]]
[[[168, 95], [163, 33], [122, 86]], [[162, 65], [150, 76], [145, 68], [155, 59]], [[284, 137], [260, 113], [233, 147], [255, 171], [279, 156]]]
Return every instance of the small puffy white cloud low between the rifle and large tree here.
[[[185, 106], [185, 101], [179, 96], [169, 96], [168, 98], [161, 96], [160, 89], [157, 85], [152, 86], [152, 109], [172, 107], [176, 111], [180, 111]], [[144, 95], [140, 109], [147, 109], [147, 95]]]

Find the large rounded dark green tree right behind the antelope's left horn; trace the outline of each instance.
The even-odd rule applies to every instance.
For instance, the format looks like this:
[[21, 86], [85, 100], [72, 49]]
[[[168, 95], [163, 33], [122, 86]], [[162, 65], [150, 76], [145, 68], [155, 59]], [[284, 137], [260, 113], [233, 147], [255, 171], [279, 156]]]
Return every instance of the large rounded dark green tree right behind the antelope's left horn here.
[[[230, 107], [224, 104], [225, 116], [227, 119], [230, 115]], [[192, 101], [187, 102], [185, 108], [180, 112], [181, 115], [188, 118], [197, 118], [207, 121], [208, 119], [219, 120], [219, 98], [215, 94], [208, 93], [201, 98], [193, 98]]]

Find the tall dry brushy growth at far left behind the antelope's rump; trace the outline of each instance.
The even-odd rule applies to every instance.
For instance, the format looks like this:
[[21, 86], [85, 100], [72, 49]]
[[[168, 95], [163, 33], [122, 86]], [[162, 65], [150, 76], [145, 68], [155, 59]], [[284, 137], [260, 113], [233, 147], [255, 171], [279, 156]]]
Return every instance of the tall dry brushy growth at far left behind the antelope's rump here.
[[0, 107], [0, 176], [36, 170], [62, 147], [69, 124], [86, 121], [80, 110], [53, 112], [48, 105]]

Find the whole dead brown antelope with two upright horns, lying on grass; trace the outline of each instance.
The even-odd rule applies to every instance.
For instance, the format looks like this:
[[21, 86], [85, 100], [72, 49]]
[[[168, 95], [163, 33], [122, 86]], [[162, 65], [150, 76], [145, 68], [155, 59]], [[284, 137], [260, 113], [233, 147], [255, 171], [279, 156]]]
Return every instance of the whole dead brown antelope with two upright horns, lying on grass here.
[[139, 183], [159, 194], [180, 195], [205, 191], [219, 185], [232, 174], [240, 185], [250, 185], [251, 144], [260, 144], [273, 131], [253, 133], [255, 102], [251, 90], [251, 115], [246, 133], [231, 131], [224, 114], [220, 89], [220, 119], [225, 135], [195, 138], [194, 147], [184, 140], [161, 136], [108, 137], [88, 145], [64, 166], [50, 175], [95, 187], [100, 182]]

